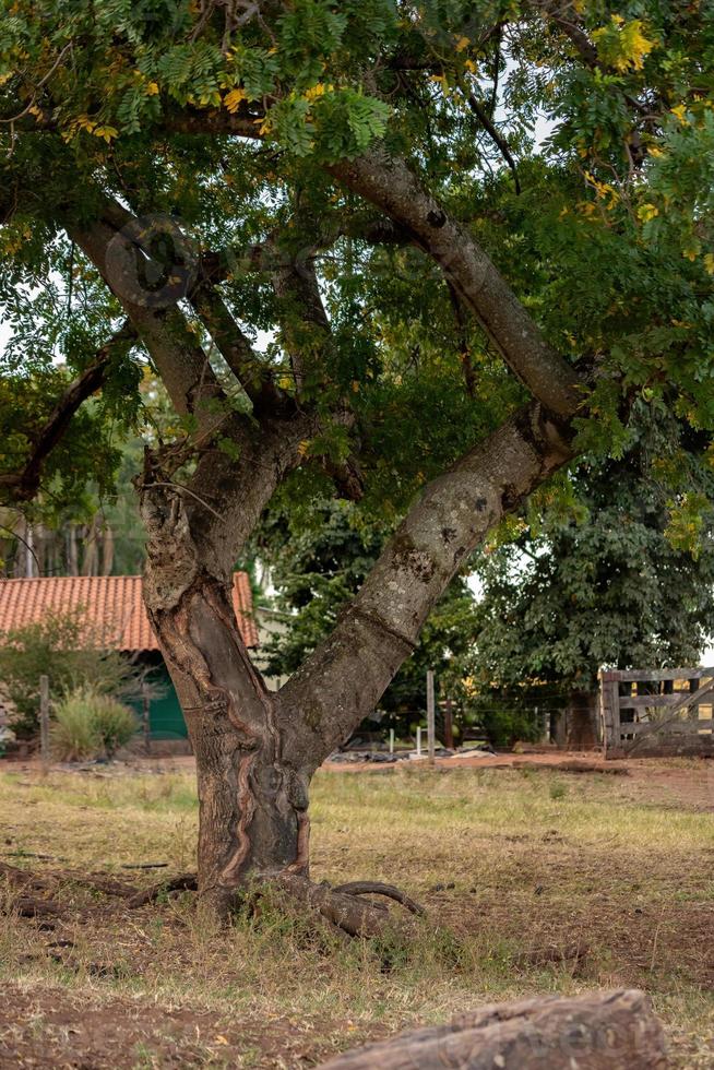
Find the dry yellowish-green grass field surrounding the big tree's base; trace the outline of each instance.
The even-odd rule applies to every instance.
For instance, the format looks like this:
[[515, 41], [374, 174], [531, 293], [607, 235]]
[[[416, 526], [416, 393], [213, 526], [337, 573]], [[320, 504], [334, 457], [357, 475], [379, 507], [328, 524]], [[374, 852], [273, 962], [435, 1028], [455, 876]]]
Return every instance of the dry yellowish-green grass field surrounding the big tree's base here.
[[[0, 773], [0, 813], [7, 860], [35, 870], [128, 879], [122, 865], [192, 865], [188, 773]], [[344, 946], [270, 907], [226, 934], [190, 896], [129, 916], [107, 907], [98, 922], [91, 895], [68, 882], [74, 919], [61, 936], [73, 947], [52, 959], [47, 934], [0, 918], [0, 985], [96, 1013], [129, 1000], [205, 1014], [226, 1044], [197, 1054], [192, 1034], [178, 1065], [264, 1067], [311, 1065], [477, 1002], [634, 985], [651, 994], [675, 1065], [714, 1063], [711, 812], [654, 782], [633, 794], [626, 777], [409, 770], [319, 773], [311, 815], [313, 878], [405, 888], [430, 918], [413, 947]], [[160, 1051], [151, 1061], [160, 1029], [148, 1041], [144, 1030], [134, 1062], [116, 1065], [163, 1066]]]

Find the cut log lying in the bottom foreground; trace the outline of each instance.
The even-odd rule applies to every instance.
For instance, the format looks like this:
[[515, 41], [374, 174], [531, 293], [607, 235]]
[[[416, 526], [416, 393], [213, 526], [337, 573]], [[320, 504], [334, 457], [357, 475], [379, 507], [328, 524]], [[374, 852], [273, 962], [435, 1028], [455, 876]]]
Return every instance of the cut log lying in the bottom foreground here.
[[483, 1007], [450, 1025], [402, 1033], [322, 1070], [664, 1070], [662, 1026], [636, 990]]

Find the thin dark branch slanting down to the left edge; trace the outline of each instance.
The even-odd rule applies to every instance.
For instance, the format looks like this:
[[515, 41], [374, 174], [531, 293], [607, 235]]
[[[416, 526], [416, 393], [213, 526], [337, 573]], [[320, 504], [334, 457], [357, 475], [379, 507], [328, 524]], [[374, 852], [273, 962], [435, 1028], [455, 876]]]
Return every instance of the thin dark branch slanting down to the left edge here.
[[67, 388], [38, 431], [22, 472], [0, 476], [0, 488], [4, 488], [14, 502], [29, 501], [35, 497], [47, 457], [61, 440], [82, 403], [104, 385], [117, 347], [133, 337], [135, 332], [129, 323], [124, 323], [102, 346], [92, 364]]

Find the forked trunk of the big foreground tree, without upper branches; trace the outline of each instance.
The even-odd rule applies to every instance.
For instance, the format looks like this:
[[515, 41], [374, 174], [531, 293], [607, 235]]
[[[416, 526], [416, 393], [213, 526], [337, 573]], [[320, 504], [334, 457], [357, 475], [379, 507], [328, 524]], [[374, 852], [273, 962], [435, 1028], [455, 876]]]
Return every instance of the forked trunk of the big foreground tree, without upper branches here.
[[253, 876], [307, 876], [316, 769], [374, 708], [464, 558], [570, 450], [533, 404], [433, 480], [332, 634], [277, 694], [236, 622], [231, 531], [198, 495], [147, 469], [144, 601], [195, 752], [204, 900], [225, 912]]

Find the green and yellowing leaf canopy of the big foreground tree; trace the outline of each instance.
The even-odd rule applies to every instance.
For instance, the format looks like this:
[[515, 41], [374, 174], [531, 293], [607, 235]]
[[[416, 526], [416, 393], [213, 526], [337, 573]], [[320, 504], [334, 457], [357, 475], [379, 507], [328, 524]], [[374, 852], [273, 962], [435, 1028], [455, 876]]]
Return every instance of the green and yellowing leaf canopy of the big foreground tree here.
[[[222, 293], [251, 337], [274, 332], [260, 359], [291, 390], [287, 333], [275, 333], [279, 301], [267, 273], [253, 270], [251, 243], [285, 231], [288, 219], [281, 240], [290, 251], [312, 248], [316, 221], [322, 234], [348, 235], [360, 213], [325, 167], [380, 138], [484, 243], [548, 340], [597, 359], [583, 450], [624, 448], [620, 407], [634, 390], [712, 427], [711, 4], [585, 0], [580, 38], [548, 20], [551, 5], [513, 0], [418, 9], [297, 0], [270, 17], [213, 0], [3, 7], [0, 304], [10, 344], [0, 420], [9, 471], [121, 311], [58, 213], [85, 218], [108, 193], [138, 214], [181, 221], [197, 250], [222, 248], [230, 268]], [[579, 51], [581, 40], [591, 52]], [[469, 95], [490, 100], [521, 195]], [[203, 118], [209, 128], [235, 118], [265, 144], [186, 138], [187, 116], [199, 130]], [[537, 116], [549, 131], [540, 144]], [[478, 325], [454, 319], [416, 250], [347, 237], [319, 266], [333, 359], [329, 373], [313, 368], [305, 396], [326, 414], [346, 394], [359, 436], [326, 419], [306, 463], [323, 448], [344, 457], [359, 439], [367, 503], [394, 516], [523, 393]], [[192, 329], [201, 336], [200, 324]], [[466, 358], [474, 396], [463, 388]], [[117, 354], [100, 400], [48, 464], [55, 499], [70, 500], [90, 475], [108, 486], [117, 433], [146, 429], [145, 365], [141, 345]], [[179, 441], [190, 420], [174, 423]]]

